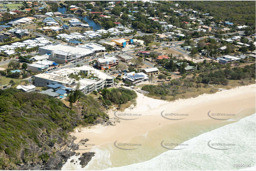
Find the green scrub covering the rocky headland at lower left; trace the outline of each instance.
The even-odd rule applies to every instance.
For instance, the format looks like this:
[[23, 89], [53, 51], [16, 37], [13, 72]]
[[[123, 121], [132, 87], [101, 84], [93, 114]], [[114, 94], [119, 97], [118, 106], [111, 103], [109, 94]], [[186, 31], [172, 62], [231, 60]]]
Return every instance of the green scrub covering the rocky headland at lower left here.
[[[108, 119], [104, 108], [92, 97], [82, 95], [77, 105], [79, 108], [70, 110], [61, 100], [48, 95], [15, 88], [0, 90], [0, 169], [18, 170], [20, 164], [47, 163], [58, 150], [56, 138], [66, 139], [76, 126], [86, 126], [96, 118]], [[73, 119], [70, 113], [83, 113], [76, 116], [84, 120]], [[26, 149], [21, 143], [39, 150]]]

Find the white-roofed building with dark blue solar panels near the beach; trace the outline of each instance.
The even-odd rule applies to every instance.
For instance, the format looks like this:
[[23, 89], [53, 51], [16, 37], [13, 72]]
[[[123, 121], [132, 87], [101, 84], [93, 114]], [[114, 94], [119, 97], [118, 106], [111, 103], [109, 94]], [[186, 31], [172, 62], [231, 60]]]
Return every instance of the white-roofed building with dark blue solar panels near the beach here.
[[143, 72], [129, 72], [123, 76], [123, 80], [128, 81], [131, 84], [136, 84], [139, 82], [148, 81], [148, 75]]

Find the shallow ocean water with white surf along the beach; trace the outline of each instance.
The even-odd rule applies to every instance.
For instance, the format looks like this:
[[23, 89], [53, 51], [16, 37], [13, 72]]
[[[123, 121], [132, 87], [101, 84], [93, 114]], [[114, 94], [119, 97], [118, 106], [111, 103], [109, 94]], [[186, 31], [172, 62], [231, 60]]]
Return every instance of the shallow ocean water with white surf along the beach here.
[[[254, 113], [254, 114], [253, 114]], [[242, 109], [235, 118], [220, 123], [183, 121], [163, 125], [135, 136], [126, 143], [140, 146], [115, 147], [114, 142], [95, 146], [95, 156], [81, 168], [73, 156], [62, 170], [238, 170], [255, 168], [255, 107]], [[253, 115], [252, 115], [253, 114]], [[162, 145], [171, 149], [169, 150]], [[217, 150], [208, 146], [225, 149]], [[117, 142], [123, 143], [123, 142]], [[168, 146], [170, 143], [183, 144]], [[217, 143], [222, 145], [214, 146]], [[223, 145], [223, 144], [228, 145]], [[184, 148], [184, 149], [182, 149]], [[228, 149], [230, 148], [230, 149]], [[78, 161], [75, 165], [69, 161]], [[233, 164], [250, 164], [251, 168]]]

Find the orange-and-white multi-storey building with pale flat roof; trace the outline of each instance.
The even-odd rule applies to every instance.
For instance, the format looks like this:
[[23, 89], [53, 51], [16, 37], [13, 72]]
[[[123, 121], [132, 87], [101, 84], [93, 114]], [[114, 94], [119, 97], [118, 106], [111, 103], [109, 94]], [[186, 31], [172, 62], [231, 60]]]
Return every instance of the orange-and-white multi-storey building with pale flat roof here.
[[111, 67], [118, 65], [119, 62], [120, 62], [120, 59], [114, 56], [104, 56], [104, 58], [97, 59], [96, 65], [98, 69], [104, 70], [106, 68], [110, 69]]

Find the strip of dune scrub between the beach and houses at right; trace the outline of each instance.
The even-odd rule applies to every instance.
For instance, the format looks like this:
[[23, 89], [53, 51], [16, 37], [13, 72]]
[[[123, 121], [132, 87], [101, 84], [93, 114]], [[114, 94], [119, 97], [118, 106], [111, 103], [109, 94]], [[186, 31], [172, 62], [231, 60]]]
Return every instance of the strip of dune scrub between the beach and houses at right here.
[[[217, 64], [216, 64], [217, 65]], [[215, 67], [214, 67], [215, 68]], [[207, 67], [199, 69], [181, 78], [161, 82], [158, 85], [144, 85], [142, 90], [148, 91], [147, 96], [163, 100], [186, 99], [200, 94], [212, 94], [220, 89], [230, 89], [249, 84], [255, 84], [255, 63], [245, 67], [218, 68]], [[214, 89], [208, 83], [217, 87]], [[215, 85], [215, 86], [214, 86]]]

